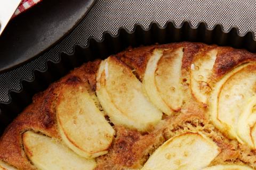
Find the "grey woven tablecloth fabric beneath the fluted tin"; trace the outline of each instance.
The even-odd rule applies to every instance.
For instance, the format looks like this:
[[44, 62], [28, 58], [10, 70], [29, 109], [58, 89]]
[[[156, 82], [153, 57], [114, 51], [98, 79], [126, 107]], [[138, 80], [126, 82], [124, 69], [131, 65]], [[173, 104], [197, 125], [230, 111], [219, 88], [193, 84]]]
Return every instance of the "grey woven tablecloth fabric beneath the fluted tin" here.
[[194, 26], [205, 21], [210, 28], [221, 23], [225, 30], [236, 25], [243, 35], [247, 30], [256, 31], [255, 9], [256, 1], [253, 0], [98, 0], [81, 23], [60, 43], [35, 60], [0, 74], [0, 101], [9, 101], [8, 91], [19, 91], [22, 79], [32, 80], [33, 69], [45, 70], [45, 60], [58, 61], [61, 51], [71, 53], [74, 44], [85, 46], [87, 38], [101, 39], [104, 31], [116, 35], [119, 27], [124, 26], [131, 31], [135, 23], [148, 28], [151, 21], [163, 26], [168, 20], [177, 25], [183, 20], [190, 20]]

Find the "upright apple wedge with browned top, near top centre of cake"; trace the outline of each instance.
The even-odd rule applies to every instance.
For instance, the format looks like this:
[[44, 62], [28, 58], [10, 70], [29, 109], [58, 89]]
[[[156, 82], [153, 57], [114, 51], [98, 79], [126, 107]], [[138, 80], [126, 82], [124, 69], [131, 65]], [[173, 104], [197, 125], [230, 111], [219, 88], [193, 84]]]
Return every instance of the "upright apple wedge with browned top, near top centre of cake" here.
[[149, 99], [167, 115], [183, 103], [181, 64], [183, 48], [155, 49], [147, 63], [143, 87]]

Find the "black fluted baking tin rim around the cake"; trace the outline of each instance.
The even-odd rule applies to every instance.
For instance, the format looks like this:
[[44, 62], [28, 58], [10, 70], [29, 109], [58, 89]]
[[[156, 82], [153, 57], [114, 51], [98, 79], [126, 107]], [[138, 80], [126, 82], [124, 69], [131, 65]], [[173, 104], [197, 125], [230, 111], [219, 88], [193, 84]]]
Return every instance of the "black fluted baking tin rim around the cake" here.
[[77, 44], [73, 47], [73, 53], [60, 53], [61, 59], [57, 63], [46, 61], [46, 71], [34, 70], [34, 80], [22, 80], [20, 92], [10, 91], [10, 102], [0, 103], [0, 134], [13, 118], [31, 103], [33, 95], [46, 89], [50, 83], [60, 79], [82, 63], [93, 61], [96, 58], [106, 58], [129, 46], [137, 47], [179, 41], [196, 41], [219, 46], [245, 48], [250, 52], [256, 52], [256, 41], [252, 31], [247, 31], [244, 36], [241, 36], [236, 27], [223, 31], [221, 24], [216, 24], [212, 29], [209, 29], [205, 22], [199, 23], [196, 27], [192, 27], [189, 21], [184, 21], [181, 27], [177, 27], [173, 21], [167, 22], [164, 27], [152, 22], [148, 29], [143, 28], [140, 24], [135, 24], [131, 32], [125, 28], [120, 28], [117, 36], [105, 32], [101, 41], [91, 37], [86, 47]]

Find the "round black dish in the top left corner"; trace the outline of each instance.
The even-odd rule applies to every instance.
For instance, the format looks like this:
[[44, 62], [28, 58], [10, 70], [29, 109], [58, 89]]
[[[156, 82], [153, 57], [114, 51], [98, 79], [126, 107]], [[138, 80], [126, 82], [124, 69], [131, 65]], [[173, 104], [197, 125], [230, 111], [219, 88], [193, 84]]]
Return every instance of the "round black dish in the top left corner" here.
[[0, 72], [49, 48], [75, 27], [95, 0], [43, 0], [12, 19], [0, 37]]

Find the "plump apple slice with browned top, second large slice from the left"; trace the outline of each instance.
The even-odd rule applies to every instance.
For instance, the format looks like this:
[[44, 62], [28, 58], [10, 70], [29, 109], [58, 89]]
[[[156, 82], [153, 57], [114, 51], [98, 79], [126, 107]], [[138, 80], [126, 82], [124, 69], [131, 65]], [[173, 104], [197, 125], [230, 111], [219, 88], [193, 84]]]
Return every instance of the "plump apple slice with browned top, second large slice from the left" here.
[[89, 84], [73, 81], [62, 87], [56, 106], [62, 140], [82, 157], [107, 154], [115, 131], [87, 91]]

